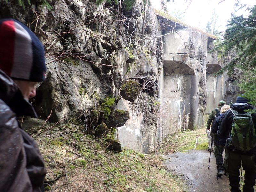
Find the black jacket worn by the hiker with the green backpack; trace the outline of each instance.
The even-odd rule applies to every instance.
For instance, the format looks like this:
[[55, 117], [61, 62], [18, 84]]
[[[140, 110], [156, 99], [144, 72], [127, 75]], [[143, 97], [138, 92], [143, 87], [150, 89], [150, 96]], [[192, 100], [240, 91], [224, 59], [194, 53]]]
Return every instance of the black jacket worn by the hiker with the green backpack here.
[[[230, 105], [230, 108], [232, 108], [233, 110], [236, 110], [237, 113], [245, 113], [244, 110], [253, 109], [253, 106], [247, 103], [233, 103], [232, 105]], [[234, 114], [230, 109], [224, 113], [218, 129], [218, 135], [220, 135], [220, 137], [229, 138], [229, 133], [231, 133], [231, 129], [232, 129], [233, 115]], [[256, 113], [252, 114], [252, 121], [254, 124], [254, 128], [256, 130]], [[227, 148], [239, 154], [248, 154], [248, 155], [256, 154], [255, 153], [256, 148], [248, 152], [237, 150], [233, 145], [229, 145], [227, 146]]]

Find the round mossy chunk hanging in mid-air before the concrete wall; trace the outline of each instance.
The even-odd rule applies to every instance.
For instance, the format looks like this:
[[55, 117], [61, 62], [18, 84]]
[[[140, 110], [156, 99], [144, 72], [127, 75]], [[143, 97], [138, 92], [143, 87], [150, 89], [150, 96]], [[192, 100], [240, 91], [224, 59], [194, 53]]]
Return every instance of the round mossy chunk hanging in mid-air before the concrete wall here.
[[130, 80], [123, 84], [120, 89], [120, 95], [128, 101], [134, 102], [140, 93], [140, 84], [137, 81]]

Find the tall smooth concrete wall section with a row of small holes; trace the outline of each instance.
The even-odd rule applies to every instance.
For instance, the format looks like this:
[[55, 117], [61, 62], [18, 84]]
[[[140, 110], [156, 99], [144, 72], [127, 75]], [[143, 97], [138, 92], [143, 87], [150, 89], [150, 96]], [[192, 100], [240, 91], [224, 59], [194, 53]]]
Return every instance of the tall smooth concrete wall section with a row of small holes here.
[[192, 29], [164, 36], [164, 136], [203, 126], [208, 37]]

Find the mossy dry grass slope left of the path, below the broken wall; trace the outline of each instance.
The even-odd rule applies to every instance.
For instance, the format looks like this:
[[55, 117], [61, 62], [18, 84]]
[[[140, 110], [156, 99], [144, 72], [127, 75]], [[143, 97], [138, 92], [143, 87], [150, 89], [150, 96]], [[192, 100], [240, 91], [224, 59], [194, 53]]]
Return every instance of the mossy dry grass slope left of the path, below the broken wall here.
[[53, 191], [186, 191], [184, 181], [162, 167], [161, 157], [130, 149], [109, 151], [105, 140], [95, 140], [80, 128], [66, 124], [47, 130], [45, 126], [47, 131], [36, 138]]

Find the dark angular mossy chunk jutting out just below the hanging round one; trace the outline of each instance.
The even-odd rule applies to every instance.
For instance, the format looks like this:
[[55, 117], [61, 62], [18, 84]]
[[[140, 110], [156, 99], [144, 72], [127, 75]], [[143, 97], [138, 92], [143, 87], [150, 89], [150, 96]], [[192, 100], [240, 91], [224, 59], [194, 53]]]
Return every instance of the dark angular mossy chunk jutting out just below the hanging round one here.
[[130, 118], [129, 112], [115, 109], [108, 118], [108, 127], [121, 127]]

